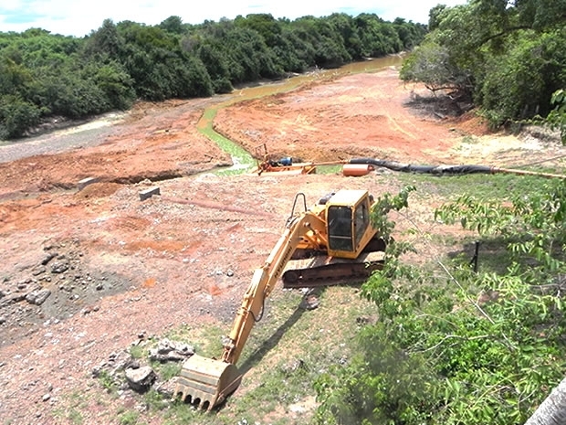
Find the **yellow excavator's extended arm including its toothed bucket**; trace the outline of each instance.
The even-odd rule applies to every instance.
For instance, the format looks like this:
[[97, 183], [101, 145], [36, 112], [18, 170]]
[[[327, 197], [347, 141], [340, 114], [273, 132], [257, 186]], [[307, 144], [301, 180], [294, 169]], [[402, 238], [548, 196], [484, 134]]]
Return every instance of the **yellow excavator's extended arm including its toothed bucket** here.
[[181, 394], [183, 400], [190, 397], [192, 402], [198, 401], [201, 407], [207, 405], [210, 410], [236, 390], [242, 378], [236, 362], [254, 324], [261, 318], [267, 297], [299, 246], [312, 250], [328, 247], [325, 225], [320, 211], [305, 211], [288, 219], [285, 231], [264, 265], [254, 271], [221, 359], [191, 356], [183, 364], [175, 395]]

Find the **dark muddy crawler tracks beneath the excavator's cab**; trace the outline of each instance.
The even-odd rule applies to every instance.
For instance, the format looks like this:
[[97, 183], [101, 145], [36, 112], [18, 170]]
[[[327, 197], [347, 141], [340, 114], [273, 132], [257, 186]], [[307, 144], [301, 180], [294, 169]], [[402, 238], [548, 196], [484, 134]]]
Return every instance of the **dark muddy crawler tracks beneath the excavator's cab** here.
[[383, 269], [383, 252], [363, 253], [356, 260], [317, 256], [290, 260], [281, 279], [284, 288], [313, 288], [362, 282]]

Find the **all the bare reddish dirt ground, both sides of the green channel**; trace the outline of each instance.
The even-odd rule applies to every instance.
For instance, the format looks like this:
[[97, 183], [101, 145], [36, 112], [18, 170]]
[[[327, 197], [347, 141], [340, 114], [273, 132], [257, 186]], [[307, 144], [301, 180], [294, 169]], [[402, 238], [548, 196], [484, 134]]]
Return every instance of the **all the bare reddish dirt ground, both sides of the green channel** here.
[[[519, 166], [563, 154], [539, 133], [492, 134], [473, 113], [432, 109], [424, 93], [394, 69], [356, 74], [236, 103], [215, 129], [309, 161]], [[104, 125], [0, 147], [0, 423], [68, 423], [61, 400], [93, 390], [92, 368], [139, 335], [229, 325], [299, 190], [314, 203], [340, 188], [400, 186], [387, 172], [214, 175], [230, 156], [196, 122], [216, 101], [140, 103]], [[98, 183], [79, 190], [87, 177]], [[155, 186], [161, 196], [142, 201]], [[421, 199], [413, 219], [434, 227], [436, 205]], [[88, 411], [85, 423], [107, 423], [100, 407]]]

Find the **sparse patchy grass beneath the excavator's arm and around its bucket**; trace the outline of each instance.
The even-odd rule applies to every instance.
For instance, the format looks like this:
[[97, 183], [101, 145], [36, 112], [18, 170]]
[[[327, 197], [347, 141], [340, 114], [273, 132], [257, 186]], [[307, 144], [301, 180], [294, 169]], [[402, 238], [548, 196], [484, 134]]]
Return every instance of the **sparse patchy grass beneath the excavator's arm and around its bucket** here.
[[[165, 424], [220, 425], [237, 420], [253, 424], [264, 423], [267, 416], [274, 424], [309, 423], [313, 410], [294, 422], [289, 422], [285, 412], [294, 403], [312, 398], [312, 383], [320, 373], [348, 361], [349, 341], [359, 327], [356, 319], [376, 314], [356, 287], [329, 287], [319, 296], [320, 307], [306, 311], [299, 306], [301, 292], [278, 289], [272, 293], [264, 318], [256, 324], [238, 362], [238, 369], [245, 374], [242, 385], [220, 409], [205, 413], [178, 400], [171, 403], [151, 390], [143, 398], [152, 414], [162, 416]], [[218, 357], [221, 337], [229, 330], [230, 324], [179, 326], [167, 337], [194, 345], [201, 356]], [[155, 367], [165, 378], [164, 368], [170, 366]]]

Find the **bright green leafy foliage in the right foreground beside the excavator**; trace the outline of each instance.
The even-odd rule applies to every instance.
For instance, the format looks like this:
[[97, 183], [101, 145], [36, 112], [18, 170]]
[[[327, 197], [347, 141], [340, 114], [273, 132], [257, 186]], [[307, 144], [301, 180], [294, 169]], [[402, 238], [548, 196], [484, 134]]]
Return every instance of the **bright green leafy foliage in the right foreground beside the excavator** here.
[[319, 423], [524, 423], [566, 366], [565, 214], [562, 181], [504, 205], [463, 196], [439, 208], [506, 249], [507, 270], [456, 259], [433, 278], [387, 261], [362, 287], [380, 315], [359, 355], [316, 384]]

